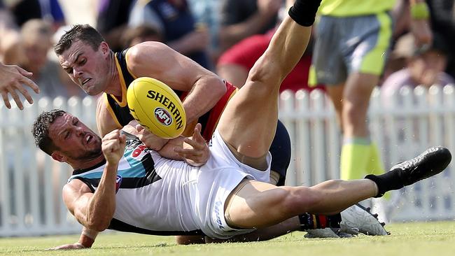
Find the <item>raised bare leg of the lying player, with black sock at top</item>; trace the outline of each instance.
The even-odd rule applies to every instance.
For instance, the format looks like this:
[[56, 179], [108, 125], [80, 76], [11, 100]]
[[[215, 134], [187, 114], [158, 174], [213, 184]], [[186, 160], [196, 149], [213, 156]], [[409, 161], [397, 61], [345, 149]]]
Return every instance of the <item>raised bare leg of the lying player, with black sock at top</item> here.
[[279, 87], [307, 48], [321, 0], [297, 0], [248, 79], [226, 106], [218, 131], [239, 155], [265, 157], [278, 120]]

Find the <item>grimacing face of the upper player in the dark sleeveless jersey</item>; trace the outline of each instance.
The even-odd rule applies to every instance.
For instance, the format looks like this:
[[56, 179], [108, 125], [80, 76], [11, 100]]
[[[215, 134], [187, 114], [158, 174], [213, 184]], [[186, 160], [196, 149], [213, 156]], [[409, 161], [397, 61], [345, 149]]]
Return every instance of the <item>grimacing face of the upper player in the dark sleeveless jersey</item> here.
[[76, 85], [89, 95], [97, 95], [108, 86], [109, 52], [105, 43], [95, 51], [87, 43], [78, 40], [58, 58], [60, 66]]

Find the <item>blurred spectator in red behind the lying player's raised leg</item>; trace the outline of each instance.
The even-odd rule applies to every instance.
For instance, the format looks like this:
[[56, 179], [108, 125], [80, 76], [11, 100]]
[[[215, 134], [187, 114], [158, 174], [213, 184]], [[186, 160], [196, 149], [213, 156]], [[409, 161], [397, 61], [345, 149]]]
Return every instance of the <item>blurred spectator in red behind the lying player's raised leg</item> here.
[[[218, 64], [216, 66], [218, 76], [225, 78], [230, 81], [232, 85], [237, 87], [243, 85], [253, 64], [267, 49], [274, 32], [275, 29], [272, 29], [266, 34], [249, 36], [226, 50], [223, 55], [221, 55], [220, 59], [218, 59]], [[316, 88], [323, 89], [322, 86], [308, 86], [310, 64], [311, 42], [300, 61], [283, 80], [280, 92], [283, 92], [283, 90], [297, 92], [297, 90], [300, 89], [309, 91]]]

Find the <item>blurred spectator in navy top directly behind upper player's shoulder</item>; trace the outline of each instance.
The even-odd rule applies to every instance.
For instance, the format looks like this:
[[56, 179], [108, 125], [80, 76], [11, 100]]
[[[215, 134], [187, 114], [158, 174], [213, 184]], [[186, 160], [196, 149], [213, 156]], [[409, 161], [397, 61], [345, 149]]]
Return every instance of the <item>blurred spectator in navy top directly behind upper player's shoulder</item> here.
[[138, 0], [130, 13], [130, 27], [149, 24], [163, 35], [165, 43], [195, 62], [211, 69], [207, 54], [210, 36], [198, 24], [186, 0]]

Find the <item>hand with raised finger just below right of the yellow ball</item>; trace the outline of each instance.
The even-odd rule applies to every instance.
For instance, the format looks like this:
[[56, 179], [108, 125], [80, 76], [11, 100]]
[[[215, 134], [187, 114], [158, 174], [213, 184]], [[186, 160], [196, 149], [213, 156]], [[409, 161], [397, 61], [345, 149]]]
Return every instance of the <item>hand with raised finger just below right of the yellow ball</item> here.
[[210, 157], [209, 146], [201, 135], [202, 125], [197, 124], [193, 136], [184, 138], [181, 147], [174, 148], [186, 162], [192, 166], [202, 166]]

